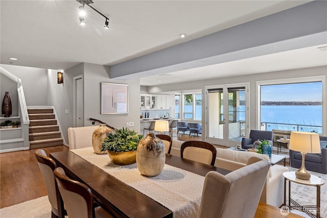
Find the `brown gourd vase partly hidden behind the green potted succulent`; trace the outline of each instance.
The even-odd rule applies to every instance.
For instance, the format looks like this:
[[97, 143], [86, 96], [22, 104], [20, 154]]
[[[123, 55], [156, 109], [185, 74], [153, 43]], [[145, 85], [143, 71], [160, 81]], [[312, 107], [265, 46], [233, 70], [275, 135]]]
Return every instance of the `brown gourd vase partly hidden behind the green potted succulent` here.
[[107, 154], [107, 151], [102, 152], [102, 140], [108, 135], [113, 134], [113, 131], [105, 124], [100, 124], [99, 128], [93, 131], [92, 147], [96, 154]]

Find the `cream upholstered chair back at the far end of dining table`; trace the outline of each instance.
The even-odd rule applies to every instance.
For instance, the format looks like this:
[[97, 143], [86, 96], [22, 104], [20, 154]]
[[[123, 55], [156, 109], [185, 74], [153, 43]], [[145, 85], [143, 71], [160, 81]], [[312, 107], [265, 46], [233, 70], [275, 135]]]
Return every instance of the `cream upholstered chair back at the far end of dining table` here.
[[98, 128], [99, 126], [69, 127], [69, 150], [92, 147], [93, 132]]

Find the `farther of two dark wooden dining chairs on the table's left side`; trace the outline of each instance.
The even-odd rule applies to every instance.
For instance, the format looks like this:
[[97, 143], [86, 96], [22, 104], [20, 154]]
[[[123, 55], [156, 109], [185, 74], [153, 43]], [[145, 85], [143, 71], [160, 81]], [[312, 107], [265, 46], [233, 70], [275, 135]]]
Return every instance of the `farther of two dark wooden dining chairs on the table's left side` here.
[[61, 200], [59, 189], [53, 174], [57, 164], [53, 159], [46, 156], [46, 153], [42, 149], [36, 150], [34, 154], [44, 180], [49, 202], [51, 204], [51, 217], [63, 218], [65, 215], [67, 215], [67, 212], [63, 209], [63, 202]]

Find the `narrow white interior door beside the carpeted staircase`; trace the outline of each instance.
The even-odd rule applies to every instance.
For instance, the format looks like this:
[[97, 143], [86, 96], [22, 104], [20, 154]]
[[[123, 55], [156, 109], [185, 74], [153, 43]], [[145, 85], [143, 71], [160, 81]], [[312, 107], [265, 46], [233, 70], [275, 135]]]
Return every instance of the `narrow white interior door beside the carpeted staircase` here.
[[83, 77], [74, 77], [74, 127], [84, 126]]

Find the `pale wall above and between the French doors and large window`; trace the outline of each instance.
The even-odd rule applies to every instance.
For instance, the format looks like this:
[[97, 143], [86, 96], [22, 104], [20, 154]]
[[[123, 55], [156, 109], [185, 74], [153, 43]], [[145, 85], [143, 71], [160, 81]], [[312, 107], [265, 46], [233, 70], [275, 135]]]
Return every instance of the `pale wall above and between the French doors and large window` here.
[[[203, 72], [205, 74], [205, 72]], [[209, 79], [209, 80], [202, 80], [202, 81], [194, 81], [194, 82], [184, 82], [184, 83], [172, 83], [160, 86], [149, 86], [148, 93], [156, 93], [158, 91], [180, 91], [182, 90], [192, 90], [192, 89], [202, 89], [202, 105], [205, 105], [205, 86], [209, 85], [224, 85], [224, 84], [235, 84], [235, 83], [244, 83], [249, 82], [249, 97], [250, 97], [250, 126], [249, 129], [258, 129], [257, 122], [256, 122], [256, 115], [258, 112], [256, 111], [256, 81], [264, 81], [264, 80], [277, 80], [277, 79], [290, 79], [290, 78], [299, 78], [299, 77], [309, 77], [309, 76], [326, 76], [327, 80], [327, 66], [320, 66], [320, 67], [311, 67], [311, 68], [302, 68], [302, 69], [291, 69], [291, 70], [283, 70], [283, 71], [276, 71], [276, 72], [266, 72], [262, 74], [251, 74], [251, 75], [244, 75], [244, 76], [236, 76], [236, 77], [225, 77], [225, 78], [217, 78], [217, 79]], [[324, 81], [324, 84], [327, 84], [327, 81]], [[323, 102], [327, 102], [327, 94], [323, 95]], [[204, 119], [205, 108], [202, 107], [202, 119]], [[324, 114], [327, 114], [324, 111]], [[322, 117], [326, 119], [325, 117]], [[323, 135], [327, 134], [327, 127], [326, 122], [323, 122]], [[206, 135], [205, 126], [202, 126], [202, 139]]]

